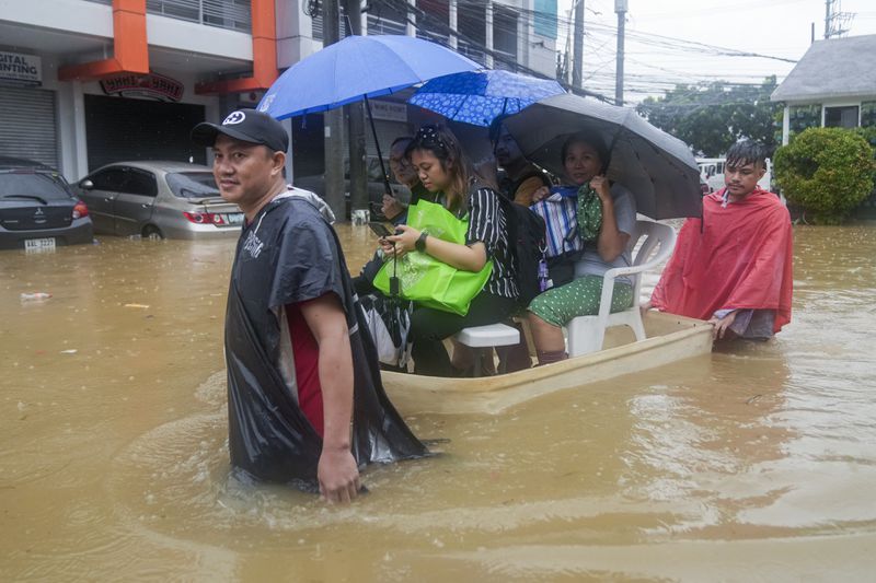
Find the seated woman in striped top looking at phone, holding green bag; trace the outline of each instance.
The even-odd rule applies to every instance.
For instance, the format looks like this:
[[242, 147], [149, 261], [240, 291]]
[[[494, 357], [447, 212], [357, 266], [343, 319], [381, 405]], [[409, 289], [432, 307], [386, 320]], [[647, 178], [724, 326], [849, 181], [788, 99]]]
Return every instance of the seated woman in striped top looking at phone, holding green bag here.
[[[443, 339], [470, 326], [502, 322], [515, 308], [518, 290], [507, 222], [498, 195], [475, 184], [449, 129], [423, 126], [407, 155], [437, 205], [420, 201], [411, 207], [407, 224], [399, 226], [401, 233], [381, 241], [390, 260], [374, 285], [381, 288], [380, 280], [396, 270], [402, 298], [415, 302], [410, 333], [415, 372], [453, 376], [459, 371]], [[417, 291], [423, 295], [412, 295]]]

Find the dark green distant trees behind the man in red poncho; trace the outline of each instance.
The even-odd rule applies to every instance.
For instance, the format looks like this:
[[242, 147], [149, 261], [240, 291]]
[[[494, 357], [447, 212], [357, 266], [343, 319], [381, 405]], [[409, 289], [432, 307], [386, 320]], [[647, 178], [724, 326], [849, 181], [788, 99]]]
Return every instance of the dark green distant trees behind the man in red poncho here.
[[676, 85], [662, 97], [646, 98], [636, 110], [702, 155], [723, 155], [742, 138], [761, 142], [772, 153], [779, 145], [775, 120], [781, 112], [781, 105], [770, 101], [775, 88], [775, 75], [760, 85]]

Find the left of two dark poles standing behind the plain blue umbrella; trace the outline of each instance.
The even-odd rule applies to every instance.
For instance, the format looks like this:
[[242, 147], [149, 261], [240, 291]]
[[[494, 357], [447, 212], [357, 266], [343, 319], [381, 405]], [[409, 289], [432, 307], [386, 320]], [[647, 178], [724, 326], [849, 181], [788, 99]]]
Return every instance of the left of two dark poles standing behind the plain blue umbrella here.
[[[338, 21], [341, 19], [338, 0], [325, 0], [322, 3], [323, 46], [337, 43]], [[346, 208], [344, 201], [344, 112], [341, 108], [323, 113], [323, 131], [325, 136], [325, 202], [332, 208], [335, 217], [344, 220]]]

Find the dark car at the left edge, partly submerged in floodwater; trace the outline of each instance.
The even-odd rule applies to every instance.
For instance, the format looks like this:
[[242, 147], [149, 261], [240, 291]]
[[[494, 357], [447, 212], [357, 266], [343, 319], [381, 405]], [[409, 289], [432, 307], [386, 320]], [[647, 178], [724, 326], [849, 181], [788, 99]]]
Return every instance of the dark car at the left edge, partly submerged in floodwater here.
[[54, 249], [93, 240], [88, 207], [58, 171], [0, 158], [0, 249]]

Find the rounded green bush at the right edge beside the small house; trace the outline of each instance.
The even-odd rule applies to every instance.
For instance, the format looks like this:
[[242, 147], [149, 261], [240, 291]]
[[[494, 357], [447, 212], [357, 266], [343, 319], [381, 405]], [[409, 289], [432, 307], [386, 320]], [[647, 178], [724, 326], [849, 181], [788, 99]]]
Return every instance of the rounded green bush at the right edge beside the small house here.
[[861, 131], [809, 128], [775, 152], [775, 179], [807, 218], [837, 224], [873, 190], [873, 148]]

